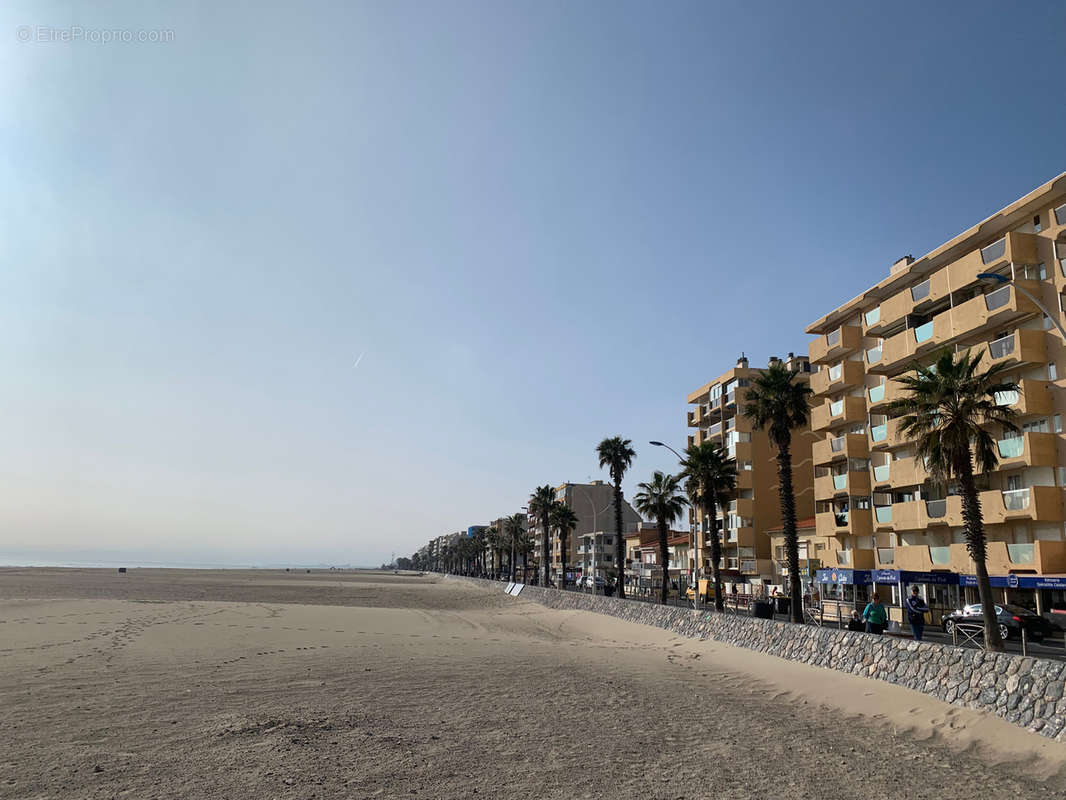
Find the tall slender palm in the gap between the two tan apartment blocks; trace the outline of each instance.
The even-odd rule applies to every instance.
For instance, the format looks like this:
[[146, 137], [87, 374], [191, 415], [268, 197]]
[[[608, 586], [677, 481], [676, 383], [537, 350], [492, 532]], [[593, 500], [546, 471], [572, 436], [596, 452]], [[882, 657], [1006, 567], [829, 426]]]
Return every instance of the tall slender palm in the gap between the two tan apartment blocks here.
[[785, 548], [788, 553], [792, 595], [792, 622], [803, 622], [803, 583], [800, 577], [800, 540], [796, 535], [796, 498], [792, 489], [792, 430], [807, 423], [810, 413], [810, 386], [796, 383], [798, 370], [780, 362], [771, 364], [752, 381], [744, 416], [764, 429], [777, 447], [778, 494]]

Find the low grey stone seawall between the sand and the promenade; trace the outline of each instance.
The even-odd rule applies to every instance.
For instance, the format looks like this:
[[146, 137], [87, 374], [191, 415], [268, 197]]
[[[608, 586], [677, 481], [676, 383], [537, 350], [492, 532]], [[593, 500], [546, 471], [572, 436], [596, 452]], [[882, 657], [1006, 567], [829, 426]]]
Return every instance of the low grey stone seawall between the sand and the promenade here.
[[[455, 578], [502, 592], [506, 583]], [[985, 653], [935, 642], [793, 625], [736, 613], [694, 611], [581, 592], [524, 587], [521, 598], [548, 608], [595, 611], [713, 639], [815, 667], [887, 681], [947, 703], [991, 711], [1007, 722], [1066, 741], [1066, 662]]]

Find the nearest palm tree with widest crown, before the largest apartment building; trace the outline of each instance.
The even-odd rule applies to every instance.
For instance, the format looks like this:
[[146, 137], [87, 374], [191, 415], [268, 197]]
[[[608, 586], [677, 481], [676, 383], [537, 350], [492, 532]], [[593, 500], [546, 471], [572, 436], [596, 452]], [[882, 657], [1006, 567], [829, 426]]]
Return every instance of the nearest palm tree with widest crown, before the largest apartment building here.
[[904, 397], [890, 403], [888, 413], [901, 417], [900, 432], [915, 441], [916, 455], [925, 460], [930, 477], [941, 485], [954, 478], [963, 495], [963, 519], [966, 523], [966, 547], [978, 574], [978, 594], [985, 609], [985, 649], [1002, 651], [988, 567], [985, 564], [985, 525], [981, 499], [973, 480], [973, 467], [990, 473], [999, 463], [996, 439], [987, 430], [998, 426], [1016, 432], [1016, 412], [1000, 405], [996, 395], [1017, 391], [1018, 386], [1003, 377], [1005, 365], [995, 364], [979, 371], [982, 353], [956, 357], [949, 348], [937, 355], [932, 367], [914, 365], [915, 373], [897, 378]]

